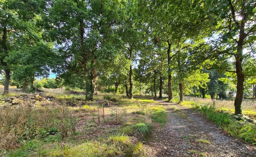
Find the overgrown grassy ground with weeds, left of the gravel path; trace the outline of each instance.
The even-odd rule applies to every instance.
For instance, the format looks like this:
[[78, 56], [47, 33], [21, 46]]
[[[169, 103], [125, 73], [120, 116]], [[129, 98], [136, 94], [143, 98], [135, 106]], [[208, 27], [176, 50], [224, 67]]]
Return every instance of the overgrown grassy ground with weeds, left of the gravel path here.
[[[112, 97], [116, 97], [118, 102], [105, 106], [103, 111], [101, 106], [98, 110], [95, 103], [90, 105], [84, 103], [82, 99], [84, 95], [65, 93], [64, 89], [43, 90], [46, 95], [63, 100], [64, 105], [59, 106], [54, 100], [52, 104], [44, 106], [32, 104], [31, 110], [29, 108], [24, 110], [22, 107], [17, 111], [14, 108], [2, 108], [1, 110], [5, 112], [0, 113], [0, 121], [10, 122], [12, 123], [10, 126], [14, 126], [8, 128], [10, 130], [5, 131], [5, 135], [15, 133], [11, 128], [23, 126], [25, 128], [18, 131], [18, 137], [8, 137], [9, 144], [15, 146], [12, 148], [2, 146], [1, 155], [5, 157], [142, 157], [144, 150], [140, 141], [151, 135], [153, 128], [151, 123], [156, 122], [163, 126], [167, 121], [165, 107], [152, 105], [154, 101], [151, 98], [140, 96], [129, 100], [120, 95], [110, 96], [113, 101], [115, 100]], [[99, 94], [95, 99], [103, 96]], [[69, 99], [76, 98], [81, 98], [80, 105], [64, 107], [68, 105]], [[98, 118], [100, 118], [99, 123]], [[113, 123], [121, 120], [122, 123]], [[107, 128], [108, 126], [110, 128]]]

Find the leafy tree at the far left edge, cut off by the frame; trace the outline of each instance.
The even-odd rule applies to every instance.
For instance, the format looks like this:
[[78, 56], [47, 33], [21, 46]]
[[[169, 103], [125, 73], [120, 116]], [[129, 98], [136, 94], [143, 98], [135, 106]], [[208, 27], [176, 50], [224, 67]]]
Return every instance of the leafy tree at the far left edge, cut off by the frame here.
[[[20, 49], [28, 40], [37, 40], [38, 28], [35, 22], [37, 15], [41, 11], [41, 6], [45, 6], [44, 1], [34, 0], [7, 0], [0, 4], [0, 64], [5, 71], [4, 93], [9, 93], [9, 81], [11, 78], [11, 65], [7, 62], [7, 57]], [[25, 9], [26, 8], [26, 9]], [[31, 43], [30, 43], [31, 44]]]

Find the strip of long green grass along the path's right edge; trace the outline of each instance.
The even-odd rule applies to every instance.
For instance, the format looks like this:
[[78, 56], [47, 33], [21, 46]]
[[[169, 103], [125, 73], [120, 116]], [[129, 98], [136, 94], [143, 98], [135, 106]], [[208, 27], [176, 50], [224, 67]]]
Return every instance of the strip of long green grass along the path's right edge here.
[[237, 117], [230, 112], [220, 111], [215, 106], [200, 106], [196, 103], [183, 102], [183, 106], [205, 114], [208, 119], [215, 122], [220, 128], [234, 137], [244, 139], [250, 144], [256, 144], [256, 125], [246, 122], [242, 117]]

